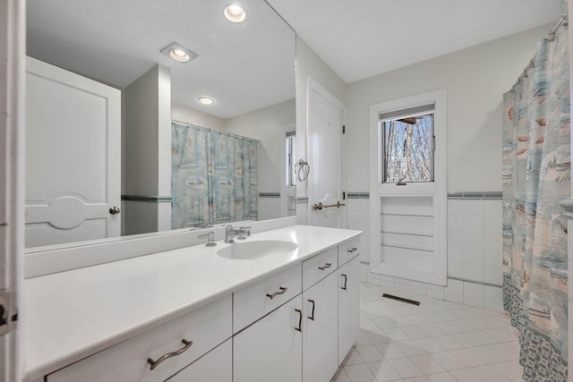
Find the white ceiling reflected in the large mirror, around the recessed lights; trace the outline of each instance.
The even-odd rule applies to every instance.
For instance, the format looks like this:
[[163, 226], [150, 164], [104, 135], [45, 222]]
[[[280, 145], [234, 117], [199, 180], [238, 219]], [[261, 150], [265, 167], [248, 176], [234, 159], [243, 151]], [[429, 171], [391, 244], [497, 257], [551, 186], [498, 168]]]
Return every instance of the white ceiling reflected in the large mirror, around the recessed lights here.
[[[263, 0], [242, 0], [247, 19], [227, 21], [229, 3], [27, 0], [27, 54], [117, 88], [162, 64], [173, 102], [221, 118], [295, 98], [295, 32]], [[199, 57], [162, 55], [174, 41]]]

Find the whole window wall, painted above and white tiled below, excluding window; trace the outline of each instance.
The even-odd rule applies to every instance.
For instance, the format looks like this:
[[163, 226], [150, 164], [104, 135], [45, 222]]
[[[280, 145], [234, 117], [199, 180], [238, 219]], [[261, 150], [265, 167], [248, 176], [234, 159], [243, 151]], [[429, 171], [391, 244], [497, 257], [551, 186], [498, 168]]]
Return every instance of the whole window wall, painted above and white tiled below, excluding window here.
[[[501, 191], [502, 95], [552, 26], [349, 84], [346, 191], [368, 190], [369, 107], [434, 89], [448, 92], [448, 191]], [[367, 234], [369, 199], [349, 199], [346, 204], [348, 227]], [[500, 199], [449, 199], [448, 221], [447, 287], [372, 274], [366, 234], [361, 242], [362, 280], [389, 290], [502, 310]]]

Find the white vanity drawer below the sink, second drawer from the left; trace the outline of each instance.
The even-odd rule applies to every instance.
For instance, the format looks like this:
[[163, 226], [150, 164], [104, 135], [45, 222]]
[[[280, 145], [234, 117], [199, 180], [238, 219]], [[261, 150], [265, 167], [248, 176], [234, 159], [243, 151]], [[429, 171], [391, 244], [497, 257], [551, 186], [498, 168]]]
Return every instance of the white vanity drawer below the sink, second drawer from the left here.
[[302, 266], [297, 264], [233, 293], [233, 333], [300, 294], [302, 284]]

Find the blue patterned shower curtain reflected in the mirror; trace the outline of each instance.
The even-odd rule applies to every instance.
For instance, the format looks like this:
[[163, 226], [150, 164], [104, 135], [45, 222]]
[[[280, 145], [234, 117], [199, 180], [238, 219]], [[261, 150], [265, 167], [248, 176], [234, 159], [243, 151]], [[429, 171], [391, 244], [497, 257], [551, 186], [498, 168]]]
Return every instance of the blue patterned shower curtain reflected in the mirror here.
[[171, 228], [258, 219], [257, 140], [172, 123]]

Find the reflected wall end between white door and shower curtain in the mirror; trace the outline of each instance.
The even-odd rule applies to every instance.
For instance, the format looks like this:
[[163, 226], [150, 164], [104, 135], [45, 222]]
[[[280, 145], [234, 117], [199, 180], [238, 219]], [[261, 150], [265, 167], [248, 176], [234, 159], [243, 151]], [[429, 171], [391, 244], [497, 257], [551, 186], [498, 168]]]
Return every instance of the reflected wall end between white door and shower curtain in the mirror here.
[[171, 229], [171, 203], [133, 197], [171, 195], [171, 74], [155, 65], [124, 90], [124, 234]]

